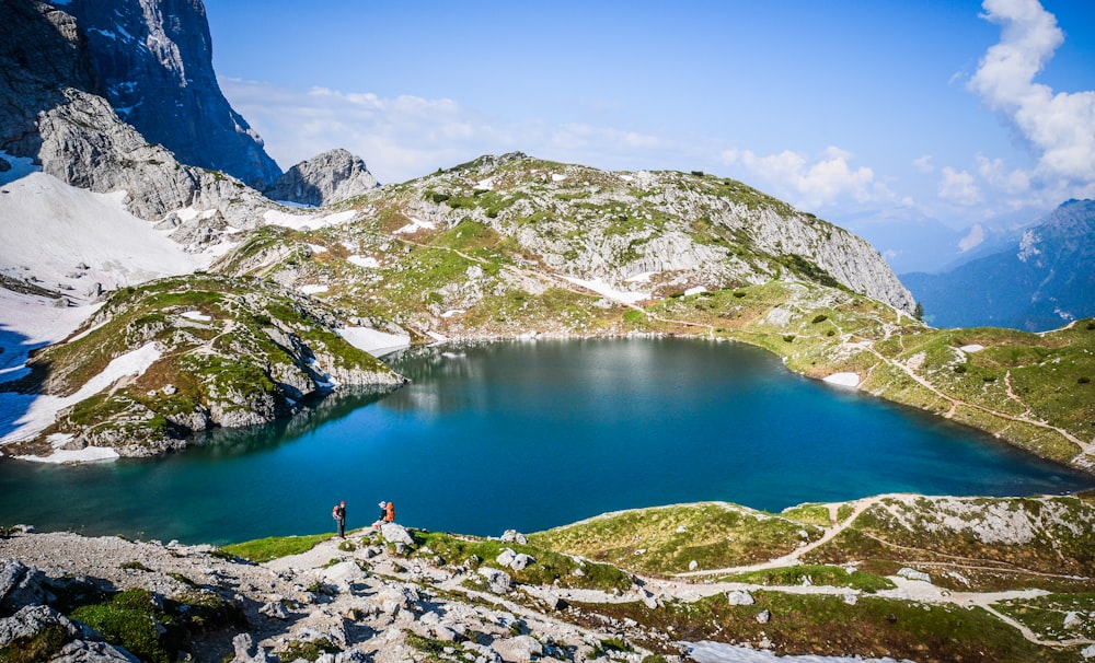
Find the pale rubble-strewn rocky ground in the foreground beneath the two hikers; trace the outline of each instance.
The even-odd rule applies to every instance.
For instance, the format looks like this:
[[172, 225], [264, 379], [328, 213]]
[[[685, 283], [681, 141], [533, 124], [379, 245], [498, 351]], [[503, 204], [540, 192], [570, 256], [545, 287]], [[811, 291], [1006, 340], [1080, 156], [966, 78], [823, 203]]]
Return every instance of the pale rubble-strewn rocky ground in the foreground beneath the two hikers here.
[[[73, 595], [135, 590], [160, 604], [196, 605], [204, 596], [221, 606], [223, 624], [191, 626], [186, 653], [194, 661], [292, 661], [295, 651], [301, 658], [322, 651], [326, 662], [404, 663], [423, 660], [417, 648], [434, 645], [442, 659], [477, 663], [586, 661], [624, 637], [622, 624], [590, 628], [553, 617], [567, 609], [562, 598], [550, 589], [517, 588], [500, 569], [408, 559], [401, 551], [411, 542], [402, 526], [385, 524], [383, 534], [354, 532], [256, 565], [211, 546], [16, 528], [0, 538], [0, 651], [59, 630], [62, 645], [39, 660], [132, 661], [53, 606]], [[473, 577], [485, 581], [484, 591], [462, 584]], [[613, 658], [639, 663], [650, 653], [629, 647], [634, 651]]]

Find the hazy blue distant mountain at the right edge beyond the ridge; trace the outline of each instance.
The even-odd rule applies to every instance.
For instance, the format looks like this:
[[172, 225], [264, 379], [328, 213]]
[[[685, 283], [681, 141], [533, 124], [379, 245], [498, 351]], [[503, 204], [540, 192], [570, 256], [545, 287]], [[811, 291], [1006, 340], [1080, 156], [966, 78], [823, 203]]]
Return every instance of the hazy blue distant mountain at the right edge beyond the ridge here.
[[1095, 313], [1095, 200], [1069, 200], [1007, 248], [901, 281], [936, 327], [1054, 329]]

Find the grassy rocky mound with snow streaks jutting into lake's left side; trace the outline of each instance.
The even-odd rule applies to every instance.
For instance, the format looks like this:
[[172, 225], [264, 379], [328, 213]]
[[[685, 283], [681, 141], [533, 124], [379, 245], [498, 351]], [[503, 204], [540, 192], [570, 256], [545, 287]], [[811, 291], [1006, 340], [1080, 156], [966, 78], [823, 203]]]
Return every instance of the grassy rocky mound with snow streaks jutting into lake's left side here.
[[[141, 368], [5, 450], [43, 456], [64, 444], [152, 456], [185, 447], [195, 432], [290, 417], [342, 385], [383, 392], [406, 382], [346, 341], [344, 324], [307, 295], [256, 279], [175, 277], [123, 289], [85, 323], [94, 333], [34, 358], [34, 386], [71, 394], [74, 375], [102, 375], [122, 357]], [[94, 350], [106, 337], [116, 341], [112, 357]]]

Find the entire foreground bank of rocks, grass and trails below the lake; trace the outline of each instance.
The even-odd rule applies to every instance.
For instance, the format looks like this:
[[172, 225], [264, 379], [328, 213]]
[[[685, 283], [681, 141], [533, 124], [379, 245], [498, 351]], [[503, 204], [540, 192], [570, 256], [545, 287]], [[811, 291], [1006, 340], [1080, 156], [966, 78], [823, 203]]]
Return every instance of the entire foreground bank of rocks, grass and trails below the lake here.
[[[909, 527], [956, 510], [996, 520], [1002, 536]], [[280, 552], [261, 552], [275, 539], [217, 549], [15, 527], [0, 532], [0, 651], [96, 662], [769, 660], [759, 650], [1086, 661], [1092, 560], [1077, 551], [1093, 517], [1090, 497], [880, 496], [780, 514], [710, 502], [486, 539], [388, 523], [346, 539], [288, 537]], [[1037, 537], [1018, 543], [1028, 530]], [[1062, 554], [1068, 569], [1054, 567]], [[1001, 591], [1002, 579], [1016, 588]], [[110, 615], [145, 621], [148, 635], [112, 628]]]

